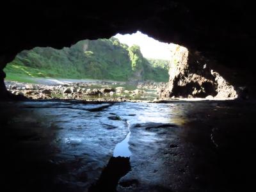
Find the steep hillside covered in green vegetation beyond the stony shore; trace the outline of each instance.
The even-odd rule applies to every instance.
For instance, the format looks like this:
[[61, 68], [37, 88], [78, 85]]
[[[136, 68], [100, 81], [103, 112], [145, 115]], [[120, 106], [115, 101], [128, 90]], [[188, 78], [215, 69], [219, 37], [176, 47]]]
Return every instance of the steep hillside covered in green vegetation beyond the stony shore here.
[[28, 77], [168, 81], [168, 61], [143, 58], [140, 47], [117, 38], [83, 40], [61, 50], [35, 47], [8, 63], [6, 79], [31, 82]]

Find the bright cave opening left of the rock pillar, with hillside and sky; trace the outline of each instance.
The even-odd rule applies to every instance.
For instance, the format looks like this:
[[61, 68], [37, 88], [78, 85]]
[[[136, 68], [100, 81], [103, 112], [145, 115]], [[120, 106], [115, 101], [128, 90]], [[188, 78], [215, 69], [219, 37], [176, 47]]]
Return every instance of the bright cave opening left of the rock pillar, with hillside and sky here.
[[5, 84], [10, 94], [29, 99], [156, 100], [170, 66], [180, 62], [180, 47], [140, 31], [59, 50], [35, 47], [6, 65]]

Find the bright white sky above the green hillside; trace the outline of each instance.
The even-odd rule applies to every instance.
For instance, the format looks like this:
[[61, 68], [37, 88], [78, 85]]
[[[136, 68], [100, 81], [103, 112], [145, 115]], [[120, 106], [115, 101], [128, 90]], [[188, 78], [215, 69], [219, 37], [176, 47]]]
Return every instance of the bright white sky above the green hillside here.
[[139, 45], [141, 53], [145, 58], [154, 58], [162, 60], [170, 60], [172, 54], [170, 50], [174, 49], [175, 44], [166, 44], [151, 38], [140, 31], [136, 33], [120, 35], [119, 33], [115, 35], [115, 38], [123, 43], [129, 45]]

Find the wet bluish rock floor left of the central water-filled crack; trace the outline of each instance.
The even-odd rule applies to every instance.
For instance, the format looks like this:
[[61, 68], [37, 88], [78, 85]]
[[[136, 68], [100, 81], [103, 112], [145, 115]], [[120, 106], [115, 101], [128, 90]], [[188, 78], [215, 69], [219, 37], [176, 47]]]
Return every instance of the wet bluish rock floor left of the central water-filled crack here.
[[[124, 121], [113, 123], [102, 116], [104, 109], [98, 109], [108, 104], [22, 102], [11, 106], [12, 117], [1, 118], [8, 138], [3, 143], [4, 162], [11, 166], [4, 173], [4, 191], [84, 191], [99, 178], [116, 143], [128, 132]], [[116, 129], [106, 128], [106, 123]], [[8, 186], [13, 175], [15, 186]]]

